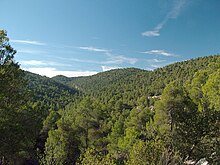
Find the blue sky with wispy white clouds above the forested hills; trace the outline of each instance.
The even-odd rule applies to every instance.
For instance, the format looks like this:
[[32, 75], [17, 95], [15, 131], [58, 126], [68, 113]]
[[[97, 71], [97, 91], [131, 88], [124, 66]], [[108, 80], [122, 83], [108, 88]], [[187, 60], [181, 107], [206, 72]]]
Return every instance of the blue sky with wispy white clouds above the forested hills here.
[[21, 68], [52, 77], [153, 70], [220, 53], [219, 0], [2, 0]]

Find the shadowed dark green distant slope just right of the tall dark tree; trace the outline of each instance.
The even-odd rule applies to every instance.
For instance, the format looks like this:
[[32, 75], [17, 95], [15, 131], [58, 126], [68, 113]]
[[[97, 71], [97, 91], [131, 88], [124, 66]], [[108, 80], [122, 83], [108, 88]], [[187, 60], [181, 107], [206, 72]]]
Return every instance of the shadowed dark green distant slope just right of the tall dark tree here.
[[79, 93], [78, 90], [50, 78], [30, 72], [25, 72], [25, 74], [34, 100], [41, 101], [44, 105], [52, 106], [54, 109], [65, 107], [72, 97]]

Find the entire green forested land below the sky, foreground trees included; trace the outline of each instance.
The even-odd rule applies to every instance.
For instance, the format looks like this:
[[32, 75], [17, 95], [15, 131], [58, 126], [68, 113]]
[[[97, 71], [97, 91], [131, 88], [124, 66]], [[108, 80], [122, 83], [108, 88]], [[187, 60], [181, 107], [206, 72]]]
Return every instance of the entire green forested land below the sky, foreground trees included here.
[[220, 164], [220, 55], [49, 79], [0, 32], [0, 164]]

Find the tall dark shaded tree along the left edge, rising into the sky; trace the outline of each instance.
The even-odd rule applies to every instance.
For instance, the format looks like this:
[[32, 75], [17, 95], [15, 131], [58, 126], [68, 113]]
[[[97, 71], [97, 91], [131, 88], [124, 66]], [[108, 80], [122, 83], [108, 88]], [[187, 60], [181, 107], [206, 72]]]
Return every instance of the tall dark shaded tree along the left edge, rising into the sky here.
[[26, 91], [24, 72], [14, 62], [16, 51], [0, 30], [0, 163], [21, 164], [33, 156], [41, 119]]

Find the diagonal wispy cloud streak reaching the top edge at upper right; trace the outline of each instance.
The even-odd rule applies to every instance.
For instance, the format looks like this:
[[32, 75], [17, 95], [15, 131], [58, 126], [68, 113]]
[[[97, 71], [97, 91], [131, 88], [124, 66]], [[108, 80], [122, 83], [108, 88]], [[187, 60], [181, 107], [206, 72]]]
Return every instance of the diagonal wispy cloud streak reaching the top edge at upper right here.
[[146, 37], [160, 36], [160, 30], [169, 21], [169, 19], [175, 19], [179, 16], [182, 9], [186, 6], [188, 0], [174, 0], [173, 8], [167, 13], [166, 17], [156, 26], [153, 30], [145, 31], [142, 33]]

